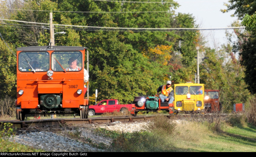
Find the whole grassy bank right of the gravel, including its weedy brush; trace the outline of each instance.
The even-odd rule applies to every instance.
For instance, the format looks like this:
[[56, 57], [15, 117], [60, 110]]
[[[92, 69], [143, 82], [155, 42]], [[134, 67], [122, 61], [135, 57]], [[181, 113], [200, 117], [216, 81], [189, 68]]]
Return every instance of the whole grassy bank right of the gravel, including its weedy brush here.
[[233, 124], [228, 119], [217, 124], [190, 119], [169, 124], [165, 117], [160, 117], [149, 128], [150, 133], [123, 134], [116, 138], [111, 151], [256, 152], [256, 128], [245, 121]]

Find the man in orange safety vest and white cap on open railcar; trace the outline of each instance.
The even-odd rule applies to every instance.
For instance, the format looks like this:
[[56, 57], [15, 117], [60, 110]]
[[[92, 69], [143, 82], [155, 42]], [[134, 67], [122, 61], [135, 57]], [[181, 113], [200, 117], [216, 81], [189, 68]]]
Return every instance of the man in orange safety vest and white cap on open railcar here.
[[[159, 86], [158, 89], [157, 89], [157, 95], [159, 95], [159, 98], [161, 100], [161, 102], [168, 102], [168, 104], [172, 104], [173, 103], [173, 100], [174, 100], [174, 91], [173, 91], [173, 88], [171, 87], [172, 85], [172, 82], [171, 81], [167, 81], [166, 82], [166, 85], [162, 85], [162, 86]], [[159, 94], [159, 92], [161, 91], [161, 94]]]

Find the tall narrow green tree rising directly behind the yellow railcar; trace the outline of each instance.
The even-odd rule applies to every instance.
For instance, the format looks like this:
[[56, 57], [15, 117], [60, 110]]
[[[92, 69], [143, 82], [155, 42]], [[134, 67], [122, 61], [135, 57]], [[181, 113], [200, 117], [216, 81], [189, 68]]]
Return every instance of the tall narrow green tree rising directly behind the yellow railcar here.
[[[192, 14], [178, 13], [174, 21], [174, 28], [196, 28], [195, 19]], [[196, 73], [197, 55], [195, 47], [201, 42], [198, 31], [177, 31], [174, 44], [174, 54], [170, 61], [170, 72], [173, 73], [175, 83], [193, 82]], [[170, 40], [170, 39], [169, 39]], [[201, 44], [201, 43], [200, 43]]]

